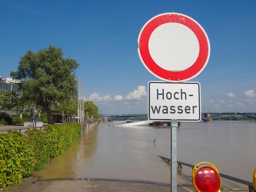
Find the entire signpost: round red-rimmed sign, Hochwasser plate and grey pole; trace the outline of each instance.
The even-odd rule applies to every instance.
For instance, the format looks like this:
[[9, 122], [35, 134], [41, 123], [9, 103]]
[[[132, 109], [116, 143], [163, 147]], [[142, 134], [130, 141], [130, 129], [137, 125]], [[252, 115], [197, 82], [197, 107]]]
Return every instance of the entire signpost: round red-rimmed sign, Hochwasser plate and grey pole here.
[[193, 18], [181, 13], [162, 13], [142, 27], [138, 54], [151, 74], [165, 82], [176, 83], [155, 86], [149, 83], [152, 89], [148, 89], [148, 120], [171, 120], [172, 192], [175, 192], [178, 121], [201, 120], [200, 84], [181, 83], [198, 76], [207, 65], [209, 38]]

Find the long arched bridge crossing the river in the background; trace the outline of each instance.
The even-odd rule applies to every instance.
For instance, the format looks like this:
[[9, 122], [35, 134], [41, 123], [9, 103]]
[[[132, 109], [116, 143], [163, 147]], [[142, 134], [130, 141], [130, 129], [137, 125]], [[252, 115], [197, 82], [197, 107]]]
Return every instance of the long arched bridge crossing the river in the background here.
[[[254, 118], [256, 120], [256, 112], [204, 112], [201, 113], [202, 120], [203, 121], [211, 121], [215, 118], [221, 117], [221, 116], [228, 116], [228, 115], [235, 115], [235, 116], [247, 116]], [[148, 120], [148, 115], [147, 114], [140, 114], [140, 115], [108, 115], [108, 116], [103, 116], [102, 119], [105, 121], [113, 121], [118, 118], [122, 119], [134, 119], [138, 118], [139, 120]]]

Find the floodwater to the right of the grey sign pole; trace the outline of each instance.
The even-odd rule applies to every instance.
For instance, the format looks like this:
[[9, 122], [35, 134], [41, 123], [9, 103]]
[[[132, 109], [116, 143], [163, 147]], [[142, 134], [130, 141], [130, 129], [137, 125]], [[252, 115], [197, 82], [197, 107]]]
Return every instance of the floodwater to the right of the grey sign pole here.
[[[219, 172], [252, 181], [256, 168], [256, 121], [182, 122], [177, 160], [213, 163]], [[191, 179], [191, 169], [182, 169]], [[222, 179], [224, 185], [248, 186]]]

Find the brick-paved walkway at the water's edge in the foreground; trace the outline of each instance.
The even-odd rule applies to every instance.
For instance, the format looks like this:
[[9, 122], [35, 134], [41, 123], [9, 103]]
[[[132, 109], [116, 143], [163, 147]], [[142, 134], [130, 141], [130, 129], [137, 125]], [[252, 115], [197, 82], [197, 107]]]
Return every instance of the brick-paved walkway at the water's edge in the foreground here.
[[[9, 185], [4, 192], [171, 192], [170, 185], [156, 185], [144, 182], [106, 180], [54, 180], [41, 181], [28, 177], [22, 183]], [[225, 192], [249, 192], [243, 188], [227, 188]], [[177, 192], [195, 192], [192, 185], [177, 186]]]

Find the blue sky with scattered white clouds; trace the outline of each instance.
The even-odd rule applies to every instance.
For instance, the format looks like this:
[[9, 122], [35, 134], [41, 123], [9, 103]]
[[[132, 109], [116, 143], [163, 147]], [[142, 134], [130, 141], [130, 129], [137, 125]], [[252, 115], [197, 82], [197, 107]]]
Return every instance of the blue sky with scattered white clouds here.
[[182, 13], [206, 31], [209, 62], [201, 84], [202, 112], [256, 112], [255, 0], [1, 0], [0, 76], [16, 71], [27, 50], [54, 45], [80, 64], [76, 76], [101, 114], [147, 112], [149, 81], [137, 40], [161, 13]]

